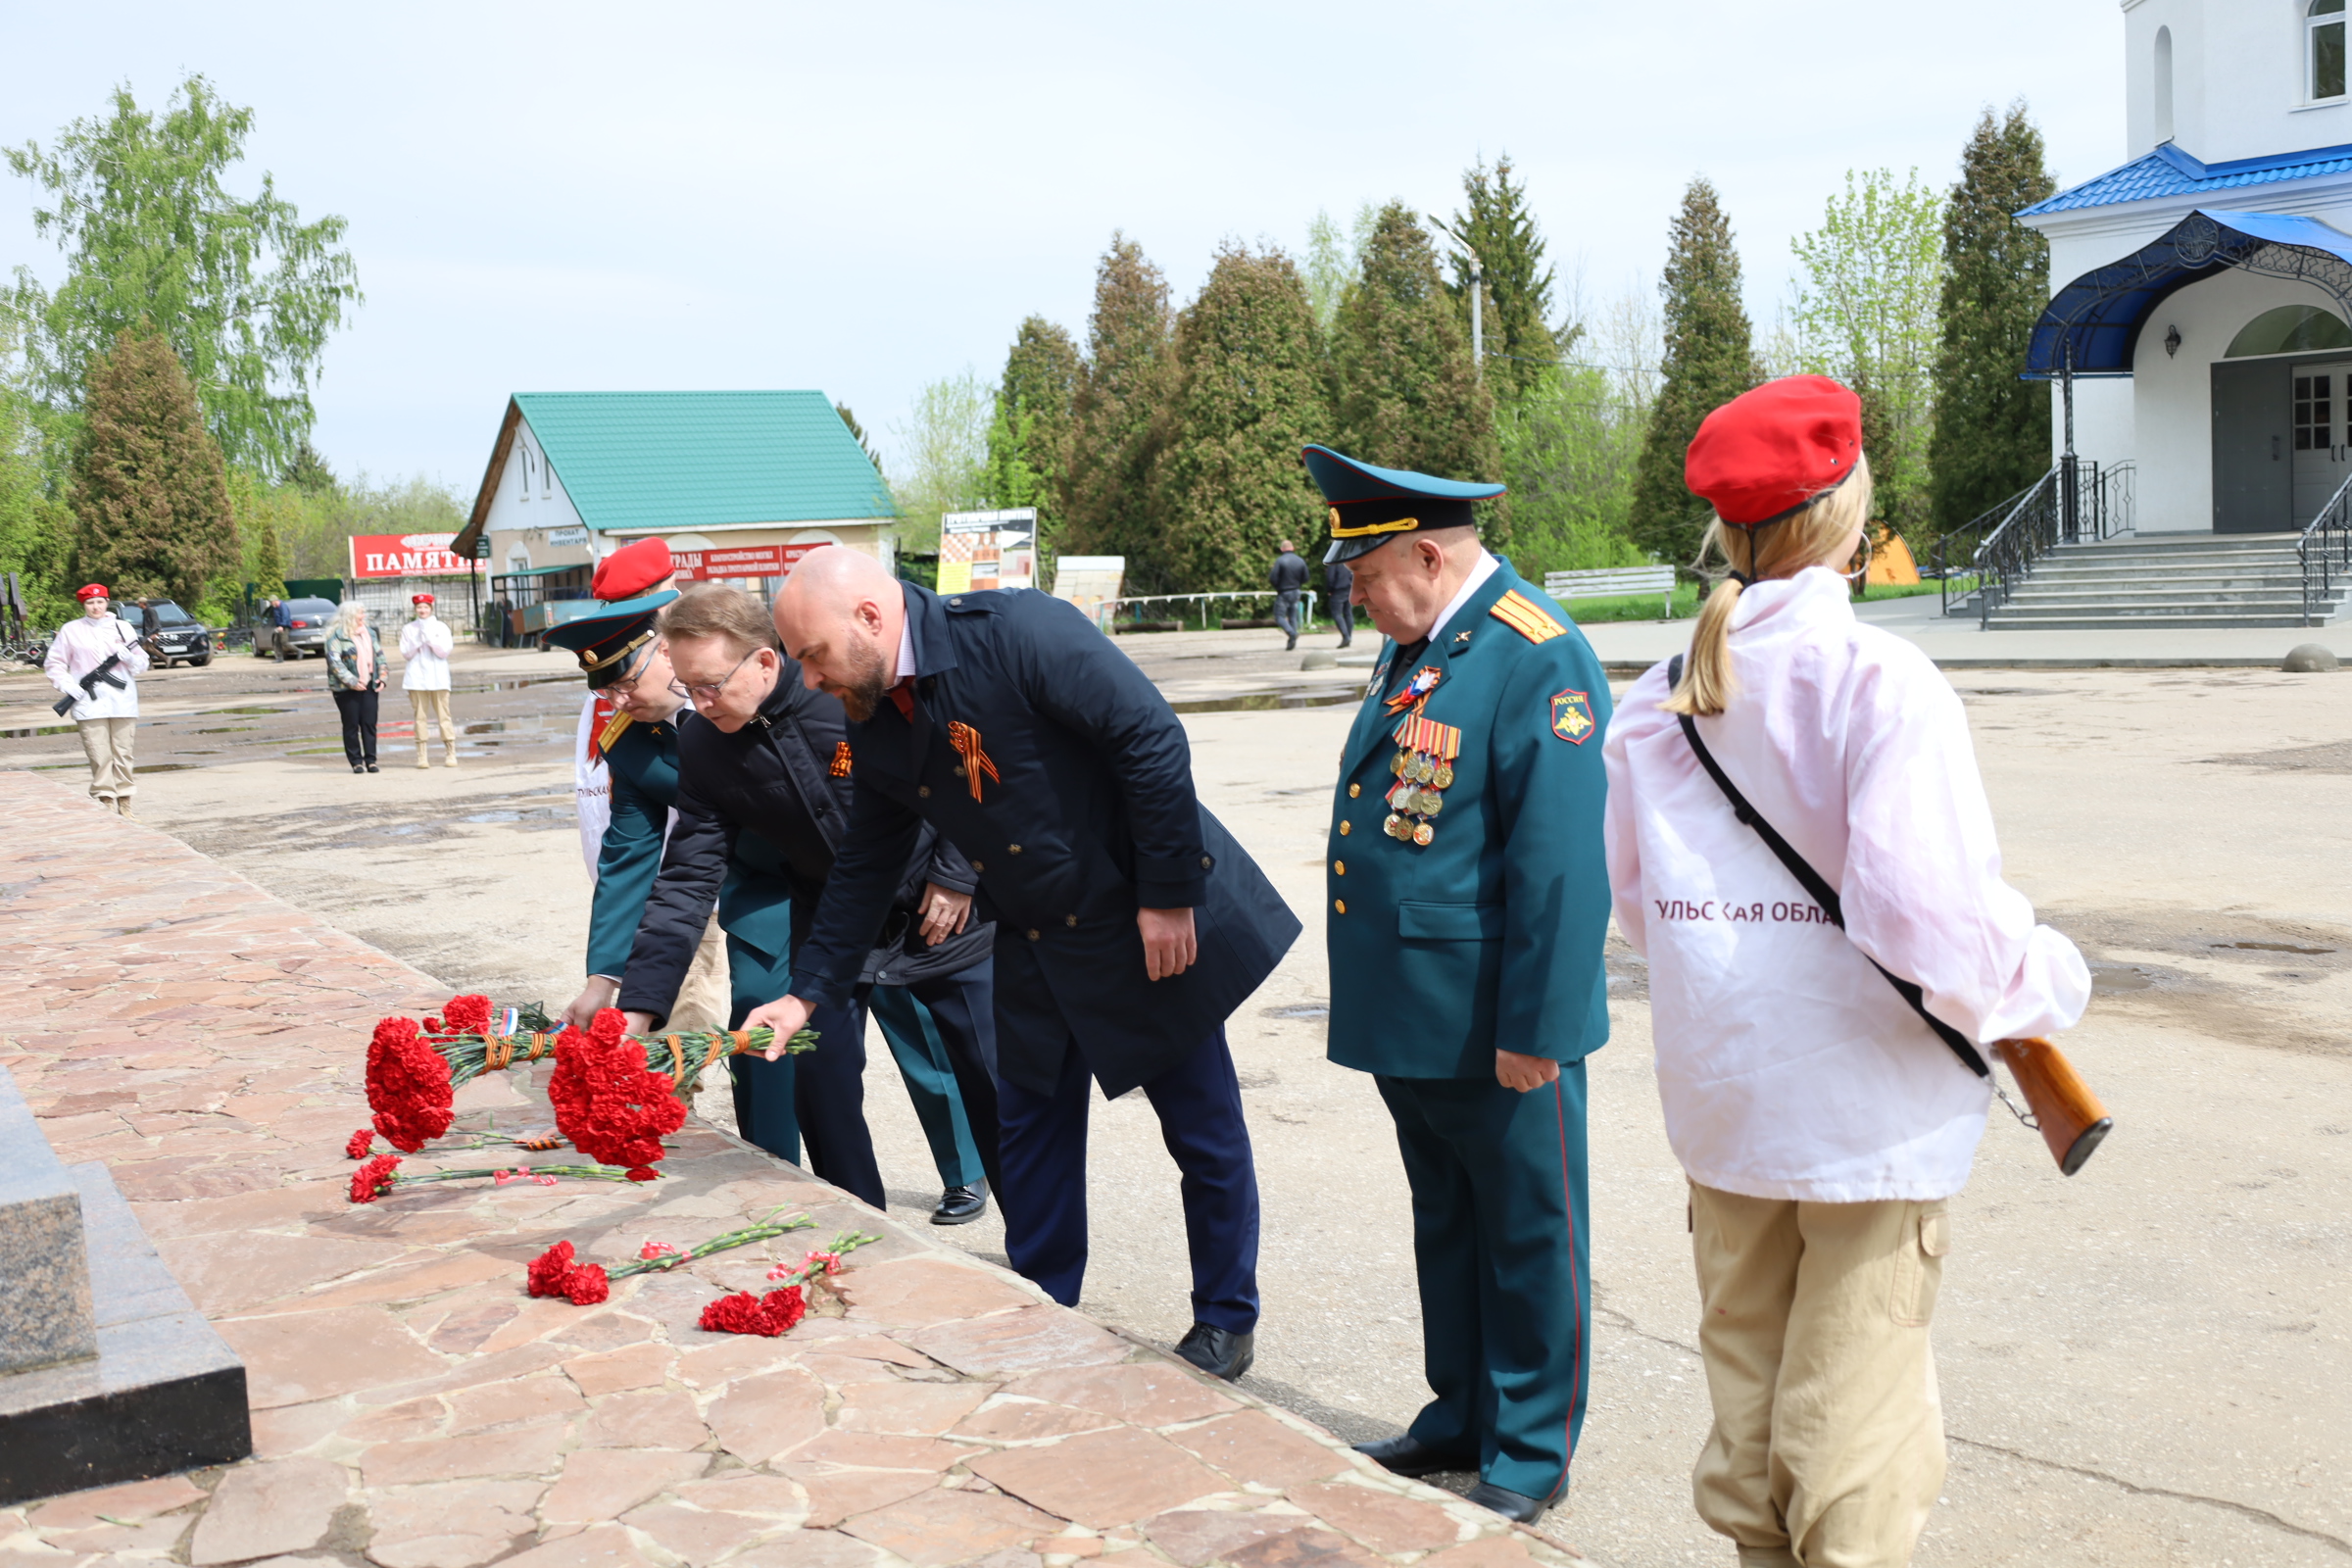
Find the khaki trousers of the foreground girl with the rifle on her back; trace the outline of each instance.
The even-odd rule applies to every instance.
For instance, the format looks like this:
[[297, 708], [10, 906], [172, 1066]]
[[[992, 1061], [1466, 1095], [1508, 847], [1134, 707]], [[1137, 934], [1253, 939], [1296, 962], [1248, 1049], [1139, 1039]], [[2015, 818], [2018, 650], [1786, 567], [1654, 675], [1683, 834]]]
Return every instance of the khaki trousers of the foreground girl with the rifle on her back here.
[[1698, 1516], [1743, 1568], [1900, 1568], [1943, 1488], [1926, 1326], [1952, 1218], [1691, 1182], [1698, 1347], [1715, 1432]]

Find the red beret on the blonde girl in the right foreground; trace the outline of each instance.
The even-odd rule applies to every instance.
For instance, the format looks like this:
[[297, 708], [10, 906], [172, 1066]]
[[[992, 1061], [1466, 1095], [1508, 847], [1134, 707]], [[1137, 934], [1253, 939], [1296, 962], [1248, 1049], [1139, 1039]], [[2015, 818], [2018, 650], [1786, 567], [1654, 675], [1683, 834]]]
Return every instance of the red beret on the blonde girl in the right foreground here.
[[1691, 494], [1757, 529], [1846, 482], [1863, 454], [1863, 400], [1828, 376], [1783, 376], [1708, 414], [1682, 463]]

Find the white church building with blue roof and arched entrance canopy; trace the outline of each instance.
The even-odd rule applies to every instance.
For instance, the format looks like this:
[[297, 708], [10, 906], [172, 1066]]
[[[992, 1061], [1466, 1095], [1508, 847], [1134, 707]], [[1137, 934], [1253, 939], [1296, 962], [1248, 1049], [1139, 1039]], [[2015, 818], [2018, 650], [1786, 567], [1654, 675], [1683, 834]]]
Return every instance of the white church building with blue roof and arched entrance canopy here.
[[2133, 158], [2018, 214], [2051, 244], [2027, 374], [2136, 465], [2143, 536], [2300, 531], [2352, 477], [2347, 0], [2122, 5]]

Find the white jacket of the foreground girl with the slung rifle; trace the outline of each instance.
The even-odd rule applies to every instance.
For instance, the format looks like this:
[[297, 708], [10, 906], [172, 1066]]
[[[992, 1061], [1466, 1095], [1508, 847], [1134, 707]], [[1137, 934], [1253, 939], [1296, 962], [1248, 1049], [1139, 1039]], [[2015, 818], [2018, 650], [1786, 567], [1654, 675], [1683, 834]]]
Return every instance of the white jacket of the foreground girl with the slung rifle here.
[[2091, 973], [2002, 882], [1959, 696], [1853, 618], [1825, 567], [1740, 595], [1738, 689], [1698, 733], [1757, 813], [1837, 889], [1828, 924], [1684, 741], [1665, 665], [1609, 724], [1609, 884], [1649, 959], [1665, 1133], [1691, 1180], [1766, 1199], [1959, 1192], [1990, 1088], [1865, 952], [1978, 1044], [2082, 1018]]

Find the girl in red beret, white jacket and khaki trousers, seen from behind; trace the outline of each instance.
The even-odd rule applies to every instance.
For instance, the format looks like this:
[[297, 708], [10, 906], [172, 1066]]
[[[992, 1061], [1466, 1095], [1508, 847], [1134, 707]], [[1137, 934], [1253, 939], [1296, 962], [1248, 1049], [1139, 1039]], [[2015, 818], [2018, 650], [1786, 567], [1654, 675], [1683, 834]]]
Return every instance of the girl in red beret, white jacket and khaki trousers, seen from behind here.
[[[1853, 618], [1842, 571], [1870, 520], [1853, 393], [1790, 376], [1724, 404], [1686, 482], [1715, 503], [1729, 576], [1679, 684], [1658, 665], [1618, 703], [1604, 762], [1616, 922], [1649, 959], [1691, 1180], [1715, 1401], [1691, 1481], [1748, 1568], [1898, 1566], [1943, 1483], [1929, 1319], [1990, 1105], [1959, 1044], [2063, 1030], [2091, 978], [2002, 882], [1952, 686]], [[1684, 715], [1837, 893], [1844, 931], [1736, 816]]]

